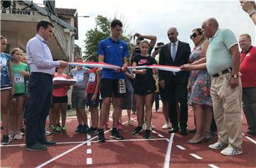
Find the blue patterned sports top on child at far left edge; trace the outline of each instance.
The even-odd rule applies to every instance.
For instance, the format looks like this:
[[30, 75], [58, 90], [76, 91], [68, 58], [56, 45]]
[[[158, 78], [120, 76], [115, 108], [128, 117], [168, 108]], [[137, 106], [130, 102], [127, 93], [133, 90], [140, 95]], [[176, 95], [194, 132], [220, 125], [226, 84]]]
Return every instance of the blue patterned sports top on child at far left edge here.
[[1, 66], [1, 86], [11, 86], [11, 77], [9, 73], [8, 63], [11, 61], [11, 56], [1, 52], [0, 66]]

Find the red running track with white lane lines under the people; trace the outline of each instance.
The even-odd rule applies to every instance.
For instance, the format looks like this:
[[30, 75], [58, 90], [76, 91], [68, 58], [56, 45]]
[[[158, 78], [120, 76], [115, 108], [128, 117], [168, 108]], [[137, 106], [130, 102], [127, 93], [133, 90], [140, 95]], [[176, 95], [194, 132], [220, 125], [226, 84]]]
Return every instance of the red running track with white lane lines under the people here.
[[[132, 118], [136, 121], [136, 115]], [[127, 116], [123, 121], [127, 121]], [[137, 126], [134, 122], [133, 126], [124, 123], [123, 130], [119, 131], [125, 140], [111, 139], [108, 131], [105, 137], [110, 141], [100, 143], [95, 136], [75, 133], [78, 123], [68, 119], [68, 133], [48, 136], [58, 145], [48, 147], [47, 151], [27, 151], [24, 138], [1, 146], [1, 167], [256, 167], [255, 137], [250, 140], [244, 137], [242, 155], [227, 157], [220, 155], [220, 150], [208, 148], [210, 142], [188, 144], [192, 133], [186, 136], [176, 133], [172, 137], [166, 130], [161, 130], [164, 124], [162, 113], [153, 113], [152, 122], [156, 129], [151, 140], [144, 140], [143, 132], [142, 135], [132, 135]], [[246, 123], [242, 127], [245, 132]], [[188, 129], [193, 129], [193, 111], [188, 113]], [[168, 142], [170, 138], [173, 138], [172, 143]], [[214, 137], [213, 142], [216, 140]]]

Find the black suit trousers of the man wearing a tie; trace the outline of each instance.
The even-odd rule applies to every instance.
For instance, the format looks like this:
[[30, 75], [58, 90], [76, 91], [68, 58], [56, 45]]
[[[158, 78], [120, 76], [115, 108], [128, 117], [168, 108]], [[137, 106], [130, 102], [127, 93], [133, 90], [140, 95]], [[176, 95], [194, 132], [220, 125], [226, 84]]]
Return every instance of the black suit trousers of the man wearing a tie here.
[[169, 120], [173, 127], [178, 127], [176, 102], [181, 105], [181, 116], [180, 116], [180, 126], [181, 128], [187, 127], [188, 122], [188, 90], [187, 84], [176, 84], [171, 82], [171, 84], [166, 85], [166, 95], [168, 95], [168, 106], [169, 106]]

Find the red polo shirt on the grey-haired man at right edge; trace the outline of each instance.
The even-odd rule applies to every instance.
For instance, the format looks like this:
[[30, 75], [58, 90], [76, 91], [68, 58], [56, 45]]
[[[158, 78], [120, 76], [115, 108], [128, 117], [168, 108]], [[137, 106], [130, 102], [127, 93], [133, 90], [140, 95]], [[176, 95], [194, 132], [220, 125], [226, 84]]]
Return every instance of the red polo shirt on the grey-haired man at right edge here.
[[[243, 60], [242, 60], [243, 59]], [[256, 86], [256, 47], [251, 47], [248, 52], [241, 52], [240, 72], [242, 74], [242, 87]]]

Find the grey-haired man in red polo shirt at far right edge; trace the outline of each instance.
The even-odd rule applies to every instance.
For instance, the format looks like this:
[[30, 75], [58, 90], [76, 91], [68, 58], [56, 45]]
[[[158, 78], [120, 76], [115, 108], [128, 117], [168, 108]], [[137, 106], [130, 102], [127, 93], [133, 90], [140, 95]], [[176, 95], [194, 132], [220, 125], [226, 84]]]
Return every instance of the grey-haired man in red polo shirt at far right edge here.
[[256, 136], [256, 47], [252, 46], [250, 35], [239, 36], [241, 48], [242, 103], [248, 130], [245, 135]]

